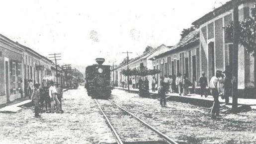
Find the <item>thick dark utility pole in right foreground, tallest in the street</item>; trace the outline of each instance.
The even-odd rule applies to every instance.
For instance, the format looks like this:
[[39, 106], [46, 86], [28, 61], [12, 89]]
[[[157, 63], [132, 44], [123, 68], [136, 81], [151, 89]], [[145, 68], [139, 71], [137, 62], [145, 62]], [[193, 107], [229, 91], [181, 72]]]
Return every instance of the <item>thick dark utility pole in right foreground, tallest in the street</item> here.
[[238, 107], [238, 41], [239, 19], [238, 6], [240, 0], [233, 0], [233, 85], [232, 85], [232, 111], [237, 113]]

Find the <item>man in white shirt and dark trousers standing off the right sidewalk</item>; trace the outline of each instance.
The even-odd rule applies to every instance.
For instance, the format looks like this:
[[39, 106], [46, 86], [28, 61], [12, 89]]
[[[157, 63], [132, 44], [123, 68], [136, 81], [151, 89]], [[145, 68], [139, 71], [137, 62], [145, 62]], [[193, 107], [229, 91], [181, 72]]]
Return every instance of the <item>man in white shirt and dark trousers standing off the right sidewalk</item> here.
[[212, 109], [211, 109], [211, 118], [216, 118], [220, 113], [220, 102], [219, 102], [219, 91], [218, 91], [218, 78], [221, 75], [221, 71], [217, 70], [215, 76], [210, 80], [209, 87], [211, 89], [212, 96], [214, 98]]

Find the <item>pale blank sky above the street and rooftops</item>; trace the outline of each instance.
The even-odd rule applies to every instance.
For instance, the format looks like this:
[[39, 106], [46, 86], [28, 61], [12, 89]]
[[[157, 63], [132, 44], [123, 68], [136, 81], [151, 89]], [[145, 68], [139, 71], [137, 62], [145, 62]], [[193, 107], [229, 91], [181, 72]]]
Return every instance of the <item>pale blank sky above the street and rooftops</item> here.
[[183, 28], [229, 0], [1, 0], [0, 33], [81, 67], [120, 64], [147, 46], [175, 45]]

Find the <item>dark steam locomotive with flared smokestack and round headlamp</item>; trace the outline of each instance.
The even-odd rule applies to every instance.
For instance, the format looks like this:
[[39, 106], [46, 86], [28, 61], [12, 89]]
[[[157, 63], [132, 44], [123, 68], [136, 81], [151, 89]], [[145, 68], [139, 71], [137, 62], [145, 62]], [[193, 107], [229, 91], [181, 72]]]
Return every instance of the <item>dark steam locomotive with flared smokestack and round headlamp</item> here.
[[111, 94], [110, 66], [102, 65], [103, 58], [97, 58], [98, 64], [87, 66], [85, 69], [85, 88], [88, 96], [106, 98]]

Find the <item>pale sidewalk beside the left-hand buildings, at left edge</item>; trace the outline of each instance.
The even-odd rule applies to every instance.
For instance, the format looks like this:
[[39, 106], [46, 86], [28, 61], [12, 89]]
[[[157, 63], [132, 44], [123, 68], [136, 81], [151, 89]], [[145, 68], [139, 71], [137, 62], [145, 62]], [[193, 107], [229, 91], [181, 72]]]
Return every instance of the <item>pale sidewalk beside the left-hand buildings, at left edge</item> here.
[[[67, 91], [68, 89], [63, 89], [63, 92]], [[23, 105], [31, 105], [32, 100], [26, 98], [16, 99], [13, 102], [6, 104], [4, 107], [0, 107], [0, 113], [17, 113], [22, 110]]]

